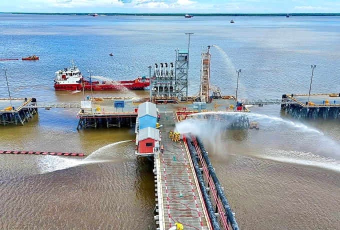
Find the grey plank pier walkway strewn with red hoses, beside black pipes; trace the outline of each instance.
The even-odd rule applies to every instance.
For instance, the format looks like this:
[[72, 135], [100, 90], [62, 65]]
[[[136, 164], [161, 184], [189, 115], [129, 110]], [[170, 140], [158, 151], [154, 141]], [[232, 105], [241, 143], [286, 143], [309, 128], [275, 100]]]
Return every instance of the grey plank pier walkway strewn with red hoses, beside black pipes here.
[[175, 127], [174, 112], [161, 112], [159, 127], [163, 153], [155, 157], [160, 230], [183, 224], [184, 229], [211, 229], [190, 155], [183, 141], [173, 142], [168, 132]]

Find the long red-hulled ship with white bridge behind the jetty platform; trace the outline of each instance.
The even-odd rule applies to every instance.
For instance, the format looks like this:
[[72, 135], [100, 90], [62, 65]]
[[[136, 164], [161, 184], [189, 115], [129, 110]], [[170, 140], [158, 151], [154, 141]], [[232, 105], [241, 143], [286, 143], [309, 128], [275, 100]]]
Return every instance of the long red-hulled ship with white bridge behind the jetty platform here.
[[92, 81], [84, 79], [78, 67], [71, 60], [71, 67], [60, 69], [55, 72], [55, 90], [124, 90], [144, 89], [150, 85], [150, 79], [145, 76], [138, 76], [134, 80], [121, 81]]

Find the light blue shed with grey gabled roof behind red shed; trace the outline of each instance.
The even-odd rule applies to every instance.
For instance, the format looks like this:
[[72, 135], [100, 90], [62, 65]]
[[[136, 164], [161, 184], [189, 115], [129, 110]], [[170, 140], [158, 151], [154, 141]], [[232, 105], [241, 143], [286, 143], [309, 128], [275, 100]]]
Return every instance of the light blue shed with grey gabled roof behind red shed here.
[[139, 130], [146, 127], [156, 127], [157, 122], [157, 108], [151, 102], [144, 102], [138, 105], [138, 123]]

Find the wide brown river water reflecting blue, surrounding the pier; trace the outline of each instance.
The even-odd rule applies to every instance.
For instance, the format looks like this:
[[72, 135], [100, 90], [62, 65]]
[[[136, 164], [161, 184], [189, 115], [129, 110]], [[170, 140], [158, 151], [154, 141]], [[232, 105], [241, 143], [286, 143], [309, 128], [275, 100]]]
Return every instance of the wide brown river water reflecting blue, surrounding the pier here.
[[[187, 31], [194, 32], [190, 94], [197, 91], [200, 47], [207, 44], [225, 51], [211, 48], [211, 81], [224, 94], [234, 94], [234, 66], [242, 68], [240, 97], [306, 93], [314, 63], [314, 92], [340, 91], [337, 17], [290, 17], [289, 21], [284, 17], [284, 22], [278, 17], [237, 17], [234, 28], [224, 17], [193, 17], [187, 23], [177, 17], [1, 18], [1, 55], [40, 56], [34, 63], [0, 63], [8, 67], [14, 97], [81, 100], [82, 92], [55, 92], [52, 87], [53, 73], [67, 66], [70, 56], [83, 73], [91, 68], [94, 75], [111, 79], [147, 75], [148, 65], [162, 58], [172, 60], [174, 48], [186, 47], [182, 33]], [[108, 57], [111, 49], [114, 61]], [[145, 96], [148, 91], [94, 95]], [[7, 97], [3, 85], [0, 97]], [[240, 229], [340, 229], [338, 120], [291, 119], [279, 105], [249, 109], [250, 118], [260, 123], [259, 130], [211, 127], [197, 133]], [[155, 229], [152, 162], [136, 158], [133, 142], [125, 141], [135, 139], [134, 129], [76, 130], [77, 111], [39, 109], [24, 126], [0, 126], [3, 150], [88, 155], [84, 159], [0, 154], [0, 229]]]

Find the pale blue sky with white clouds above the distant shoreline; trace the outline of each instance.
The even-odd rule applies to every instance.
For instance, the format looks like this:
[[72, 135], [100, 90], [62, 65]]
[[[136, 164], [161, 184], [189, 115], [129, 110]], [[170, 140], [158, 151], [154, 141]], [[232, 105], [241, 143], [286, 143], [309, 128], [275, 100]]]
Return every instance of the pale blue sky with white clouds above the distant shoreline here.
[[340, 12], [340, 0], [0, 0], [0, 12]]

